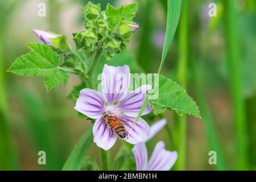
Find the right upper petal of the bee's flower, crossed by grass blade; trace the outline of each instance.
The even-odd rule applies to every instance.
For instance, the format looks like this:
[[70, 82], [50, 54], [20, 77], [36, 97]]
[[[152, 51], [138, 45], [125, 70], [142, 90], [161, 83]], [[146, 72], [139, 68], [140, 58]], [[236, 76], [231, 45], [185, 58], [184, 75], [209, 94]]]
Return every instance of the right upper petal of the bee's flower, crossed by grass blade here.
[[[123, 113], [131, 117], [137, 117], [139, 110], [143, 105], [144, 100], [147, 97], [146, 91], [151, 89], [151, 85], [142, 85], [138, 89], [134, 90], [133, 93], [128, 93], [127, 96], [118, 104], [118, 109], [121, 109]], [[151, 112], [151, 107], [147, 104], [142, 115]]]

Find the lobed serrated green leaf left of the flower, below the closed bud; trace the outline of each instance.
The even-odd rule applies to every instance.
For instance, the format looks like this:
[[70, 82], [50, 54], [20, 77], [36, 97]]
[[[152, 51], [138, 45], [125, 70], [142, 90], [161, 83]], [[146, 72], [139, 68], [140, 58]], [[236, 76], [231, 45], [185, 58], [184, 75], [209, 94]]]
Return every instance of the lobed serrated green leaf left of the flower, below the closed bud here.
[[9, 72], [20, 76], [43, 76], [47, 91], [68, 82], [68, 73], [59, 68], [60, 56], [45, 44], [27, 44], [31, 49], [26, 55], [18, 57], [9, 68]]

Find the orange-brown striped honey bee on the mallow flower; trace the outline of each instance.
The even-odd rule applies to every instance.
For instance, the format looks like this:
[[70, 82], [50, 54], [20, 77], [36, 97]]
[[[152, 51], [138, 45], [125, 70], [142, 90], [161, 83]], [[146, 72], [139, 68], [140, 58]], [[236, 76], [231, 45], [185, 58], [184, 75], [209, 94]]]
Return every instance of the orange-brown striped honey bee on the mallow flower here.
[[119, 119], [112, 113], [104, 112], [102, 115], [104, 117], [103, 122], [106, 125], [108, 125], [108, 127], [110, 128], [110, 130], [112, 132], [111, 138], [113, 136], [113, 131], [115, 132], [115, 134], [117, 134], [117, 136], [120, 139], [124, 139], [125, 137], [127, 137], [127, 132], [125, 130], [125, 126], [123, 126], [123, 123], [122, 123], [122, 122], [127, 122], [127, 121], [123, 121], [123, 120]]

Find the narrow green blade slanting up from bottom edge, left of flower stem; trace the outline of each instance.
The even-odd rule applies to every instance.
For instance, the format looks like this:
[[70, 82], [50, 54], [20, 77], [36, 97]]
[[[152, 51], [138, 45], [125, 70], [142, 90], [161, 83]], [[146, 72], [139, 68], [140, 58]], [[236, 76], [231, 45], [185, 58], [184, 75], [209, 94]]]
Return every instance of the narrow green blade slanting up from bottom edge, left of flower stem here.
[[82, 135], [64, 164], [63, 171], [79, 171], [84, 162], [86, 152], [93, 142], [92, 126]]

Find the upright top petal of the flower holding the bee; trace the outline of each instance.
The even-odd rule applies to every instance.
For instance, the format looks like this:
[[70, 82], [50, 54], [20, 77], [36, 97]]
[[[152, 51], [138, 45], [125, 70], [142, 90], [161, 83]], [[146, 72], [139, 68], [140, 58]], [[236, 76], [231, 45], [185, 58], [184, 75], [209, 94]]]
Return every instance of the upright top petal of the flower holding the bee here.
[[130, 84], [130, 68], [127, 65], [112, 67], [104, 65], [102, 71], [102, 93], [109, 104], [126, 97]]

